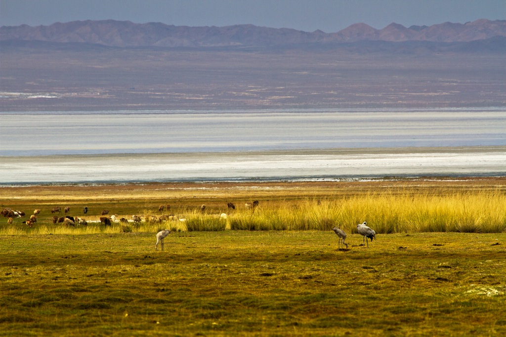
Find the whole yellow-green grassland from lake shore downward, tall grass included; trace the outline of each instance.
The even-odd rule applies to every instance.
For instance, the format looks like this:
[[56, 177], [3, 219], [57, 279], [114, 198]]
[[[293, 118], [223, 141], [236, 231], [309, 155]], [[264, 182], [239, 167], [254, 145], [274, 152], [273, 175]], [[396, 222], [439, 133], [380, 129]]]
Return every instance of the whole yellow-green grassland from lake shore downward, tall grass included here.
[[[504, 335], [505, 182], [5, 186], [2, 207], [42, 211], [32, 228], [0, 218], [0, 335]], [[64, 227], [55, 206], [186, 221]], [[284, 217], [306, 227], [238, 227]], [[361, 221], [378, 232], [369, 248], [353, 231]], [[155, 251], [164, 227], [174, 232]]]

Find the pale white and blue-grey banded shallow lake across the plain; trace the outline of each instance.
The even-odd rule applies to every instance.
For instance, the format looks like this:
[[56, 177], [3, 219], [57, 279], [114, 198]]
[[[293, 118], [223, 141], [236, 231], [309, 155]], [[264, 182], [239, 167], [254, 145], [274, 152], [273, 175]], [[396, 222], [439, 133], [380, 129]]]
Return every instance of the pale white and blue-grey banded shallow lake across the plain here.
[[505, 108], [0, 118], [3, 184], [506, 174]]

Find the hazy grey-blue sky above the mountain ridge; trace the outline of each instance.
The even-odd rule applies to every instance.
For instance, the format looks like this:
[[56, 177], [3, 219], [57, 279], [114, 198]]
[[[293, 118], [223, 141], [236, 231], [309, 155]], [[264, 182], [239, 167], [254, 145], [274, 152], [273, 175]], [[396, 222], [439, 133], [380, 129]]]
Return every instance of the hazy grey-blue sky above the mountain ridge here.
[[357, 22], [379, 29], [482, 18], [506, 19], [506, 0], [0, 0], [2, 26], [114, 19], [336, 32]]

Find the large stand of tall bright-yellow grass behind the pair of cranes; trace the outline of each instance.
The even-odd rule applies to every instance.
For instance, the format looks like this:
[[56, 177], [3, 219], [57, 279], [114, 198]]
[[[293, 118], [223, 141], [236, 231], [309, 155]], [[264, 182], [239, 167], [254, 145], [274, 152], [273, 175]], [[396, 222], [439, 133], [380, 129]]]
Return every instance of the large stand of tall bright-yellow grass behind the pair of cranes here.
[[446, 195], [383, 192], [351, 198], [264, 203], [236, 213], [231, 229], [330, 230], [356, 233], [367, 221], [378, 234], [399, 232], [502, 232], [506, 197], [500, 191]]

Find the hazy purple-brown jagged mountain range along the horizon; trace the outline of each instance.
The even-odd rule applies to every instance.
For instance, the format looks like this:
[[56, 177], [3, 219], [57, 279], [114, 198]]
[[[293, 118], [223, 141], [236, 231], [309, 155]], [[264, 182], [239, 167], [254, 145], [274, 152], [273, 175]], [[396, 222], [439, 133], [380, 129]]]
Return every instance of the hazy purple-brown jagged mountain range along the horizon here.
[[506, 20], [480, 19], [465, 24], [442, 23], [406, 28], [392, 23], [374, 29], [356, 23], [336, 33], [320, 30], [305, 32], [289, 28], [268, 28], [255, 25], [226, 27], [188, 27], [163, 23], [137, 24], [130, 21], [73, 21], [50, 26], [2, 26], [0, 40], [47, 41], [59, 43], [94, 43], [113, 47], [223, 47], [223, 46], [289, 46], [328, 45], [361, 41], [430, 41], [497, 44], [504, 50]]

